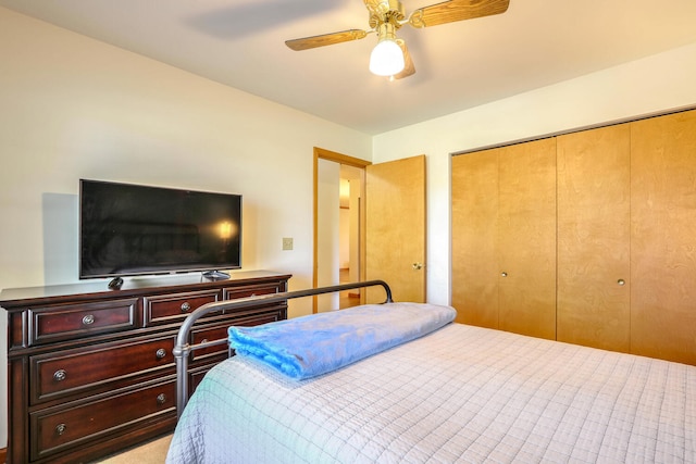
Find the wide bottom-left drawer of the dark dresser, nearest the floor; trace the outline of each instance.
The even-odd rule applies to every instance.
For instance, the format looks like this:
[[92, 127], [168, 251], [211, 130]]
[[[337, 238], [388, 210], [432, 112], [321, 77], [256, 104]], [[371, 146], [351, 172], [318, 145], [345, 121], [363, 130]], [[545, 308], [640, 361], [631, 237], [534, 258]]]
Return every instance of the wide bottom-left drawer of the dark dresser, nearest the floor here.
[[175, 416], [173, 379], [86, 404], [35, 412], [30, 414], [32, 459], [44, 459], [87, 440], [138, 428], [146, 421]]

